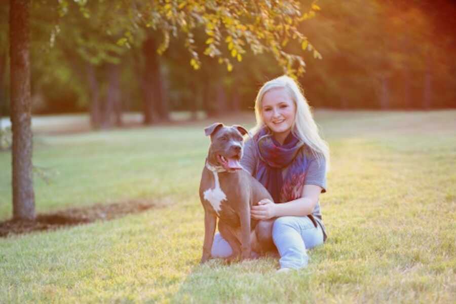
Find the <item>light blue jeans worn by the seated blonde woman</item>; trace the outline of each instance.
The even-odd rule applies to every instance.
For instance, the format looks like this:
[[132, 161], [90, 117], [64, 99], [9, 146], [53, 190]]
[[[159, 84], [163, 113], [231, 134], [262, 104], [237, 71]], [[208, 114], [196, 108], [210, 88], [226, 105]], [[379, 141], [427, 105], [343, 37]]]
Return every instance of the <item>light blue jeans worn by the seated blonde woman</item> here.
[[[309, 262], [307, 249], [323, 244], [320, 225], [314, 226], [307, 216], [282, 216], [273, 224], [272, 237], [280, 254], [280, 267], [300, 269]], [[228, 257], [233, 253], [230, 244], [219, 233], [214, 237], [211, 255]]]

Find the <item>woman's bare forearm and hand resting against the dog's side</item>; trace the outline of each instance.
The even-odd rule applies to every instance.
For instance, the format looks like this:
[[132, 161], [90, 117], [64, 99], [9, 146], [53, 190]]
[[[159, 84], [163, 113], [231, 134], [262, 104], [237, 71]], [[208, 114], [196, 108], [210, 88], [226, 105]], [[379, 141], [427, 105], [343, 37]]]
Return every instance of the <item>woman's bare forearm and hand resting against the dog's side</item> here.
[[304, 185], [301, 198], [283, 204], [261, 200], [258, 206], [252, 206], [250, 212], [253, 218], [261, 220], [279, 216], [306, 216], [314, 211], [321, 191], [320, 186]]

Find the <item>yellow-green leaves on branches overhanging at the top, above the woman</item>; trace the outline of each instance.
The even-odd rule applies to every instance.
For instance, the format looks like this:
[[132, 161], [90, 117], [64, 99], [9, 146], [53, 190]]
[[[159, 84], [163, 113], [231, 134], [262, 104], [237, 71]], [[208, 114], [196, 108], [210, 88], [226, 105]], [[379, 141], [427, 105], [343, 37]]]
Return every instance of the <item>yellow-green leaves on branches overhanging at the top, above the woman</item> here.
[[[131, 20], [138, 27], [160, 30], [163, 42], [158, 48], [162, 54], [169, 46], [170, 37], [184, 36], [184, 45], [191, 54], [190, 64], [194, 69], [201, 67], [195, 30], [203, 27], [206, 33], [204, 55], [217, 57], [228, 71], [233, 61], [241, 61], [246, 49], [254, 54], [271, 52], [284, 72], [299, 75], [304, 72], [305, 62], [300, 55], [286, 51], [289, 41], [295, 40], [303, 50], [318, 51], [309, 43], [297, 26], [316, 15], [320, 7], [314, 3], [309, 12], [302, 13], [297, 1], [154, 1], [144, 5], [134, 0], [125, 2], [130, 15], [140, 16]], [[131, 9], [133, 7], [133, 9]], [[127, 31], [118, 43], [133, 41]]]

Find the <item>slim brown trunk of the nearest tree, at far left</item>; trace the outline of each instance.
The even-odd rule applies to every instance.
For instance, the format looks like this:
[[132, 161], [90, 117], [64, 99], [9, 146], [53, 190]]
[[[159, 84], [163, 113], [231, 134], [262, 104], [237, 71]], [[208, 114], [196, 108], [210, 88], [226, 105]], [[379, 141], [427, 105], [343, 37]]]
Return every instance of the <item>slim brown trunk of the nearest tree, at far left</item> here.
[[29, 0], [10, 1], [11, 124], [13, 130], [13, 218], [35, 218], [32, 181]]

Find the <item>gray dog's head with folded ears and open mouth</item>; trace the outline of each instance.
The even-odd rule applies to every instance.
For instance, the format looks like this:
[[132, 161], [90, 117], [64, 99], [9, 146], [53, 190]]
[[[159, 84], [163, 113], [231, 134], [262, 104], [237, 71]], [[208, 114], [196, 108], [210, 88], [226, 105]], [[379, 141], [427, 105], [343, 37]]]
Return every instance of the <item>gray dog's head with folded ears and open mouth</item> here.
[[238, 125], [224, 126], [215, 123], [204, 129], [206, 136], [211, 137], [208, 161], [215, 166], [222, 166], [226, 171], [242, 169], [239, 162], [242, 158], [244, 138], [248, 131]]

